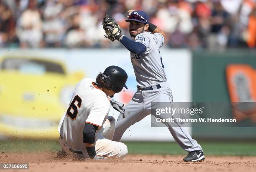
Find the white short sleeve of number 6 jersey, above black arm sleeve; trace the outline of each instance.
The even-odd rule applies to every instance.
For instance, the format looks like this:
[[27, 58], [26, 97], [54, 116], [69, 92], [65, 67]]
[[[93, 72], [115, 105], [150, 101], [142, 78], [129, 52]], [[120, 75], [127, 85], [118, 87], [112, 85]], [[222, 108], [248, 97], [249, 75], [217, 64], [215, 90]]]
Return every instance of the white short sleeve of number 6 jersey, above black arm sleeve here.
[[110, 103], [104, 102], [105, 100], [98, 100], [97, 103], [93, 105], [85, 123], [90, 123], [98, 127], [102, 126], [105, 117], [108, 115], [108, 112], [110, 110]]

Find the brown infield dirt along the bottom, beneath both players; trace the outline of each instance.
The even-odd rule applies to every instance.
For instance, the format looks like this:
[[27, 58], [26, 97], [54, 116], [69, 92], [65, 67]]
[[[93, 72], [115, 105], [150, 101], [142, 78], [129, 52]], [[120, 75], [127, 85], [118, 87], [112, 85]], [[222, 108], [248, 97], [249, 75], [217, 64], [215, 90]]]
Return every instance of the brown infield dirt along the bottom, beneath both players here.
[[[78, 161], [57, 159], [56, 153], [0, 153], [0, 162], [29, 163], [31, 172], [213, 172], [256, 171], [256, 157], [209, 156], [203, 162], [183, 162], [182, 156], [128, 155], [125, 160]], [[10, 172], [12, 170], [8, 170]], [[20, 170], [13, 170], [20, 171]]]

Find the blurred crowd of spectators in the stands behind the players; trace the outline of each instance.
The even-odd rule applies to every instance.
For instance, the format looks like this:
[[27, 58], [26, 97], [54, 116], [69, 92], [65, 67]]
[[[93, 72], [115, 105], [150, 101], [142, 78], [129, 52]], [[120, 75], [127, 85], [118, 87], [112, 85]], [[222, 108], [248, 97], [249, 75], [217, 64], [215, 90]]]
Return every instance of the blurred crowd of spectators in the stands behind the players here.
[[0, 47], [122, 47], [104, 39], [112, 15], [143, 10], [173, 48], [256, 47], [256, 0], [0, 0]]

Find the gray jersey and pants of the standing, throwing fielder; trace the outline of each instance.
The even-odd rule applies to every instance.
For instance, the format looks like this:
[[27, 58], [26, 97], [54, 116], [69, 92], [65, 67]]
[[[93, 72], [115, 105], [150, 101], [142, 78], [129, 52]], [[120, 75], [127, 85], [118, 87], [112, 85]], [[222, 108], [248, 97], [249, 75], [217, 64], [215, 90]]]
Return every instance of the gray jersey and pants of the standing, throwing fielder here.
[[[124, 107], [125, 113], [118, 117], [114, 141], [119, 141], [128, 127], [151, 114], [151, 102], [170, 102], [170, 107], [172, 107], [172, 91], [166, 82], [164, 65], [159, 51], [164, 44], [164, 37], [160, 33], [143, 32], [135, 37], [135, 41], [146, 46], [146, 51], [142, 55], [131, 52], [131, 62], [138, 85], [148, 87], [159, 84], [161, 88], [154, 87], [154, 90], [147, 91], [137, 90], [131, 101]], [[160, 118], [164, 119], [164, 117]], [[173, 127], [171, 122], [164, 124], [184, 150], [188, 152], [202, 150], [202, 147], [192, 139], [184, 128]]]

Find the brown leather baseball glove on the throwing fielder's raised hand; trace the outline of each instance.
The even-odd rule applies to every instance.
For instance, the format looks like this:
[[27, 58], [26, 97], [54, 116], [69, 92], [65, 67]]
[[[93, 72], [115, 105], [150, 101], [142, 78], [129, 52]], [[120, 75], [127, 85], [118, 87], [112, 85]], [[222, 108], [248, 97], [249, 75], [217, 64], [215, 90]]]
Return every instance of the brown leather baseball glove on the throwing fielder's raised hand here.
[[122, 30], [120, 26], [110, 15], [104, 15], [102, 25], [106, 33], [106, 35], [104, 35], [105, 38], [114, 41], [119, 40], [120, 37], [122, 37]]

